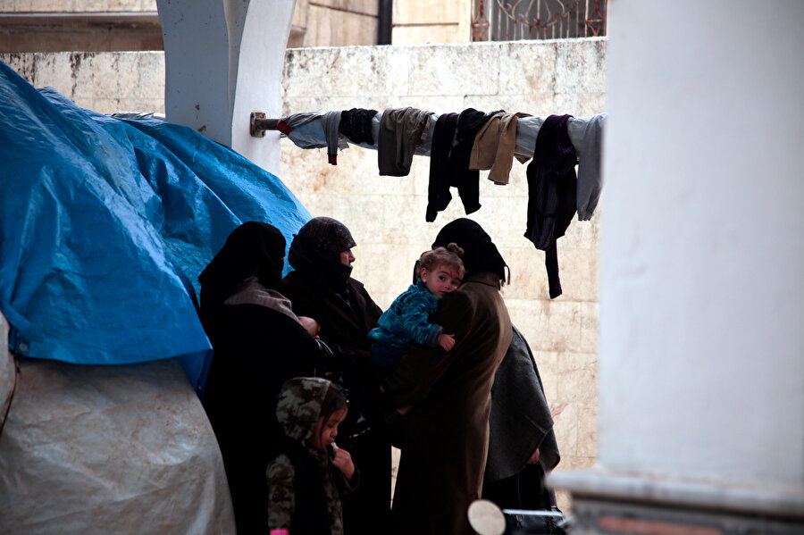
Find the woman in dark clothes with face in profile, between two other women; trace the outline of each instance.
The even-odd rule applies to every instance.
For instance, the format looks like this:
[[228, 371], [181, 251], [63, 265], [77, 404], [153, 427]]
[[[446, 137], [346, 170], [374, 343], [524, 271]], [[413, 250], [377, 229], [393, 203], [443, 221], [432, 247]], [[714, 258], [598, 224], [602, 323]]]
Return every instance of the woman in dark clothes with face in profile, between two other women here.
[[389, 524], [391, 448], [368, 340], [382, 310], [351, 277], [355, 245], [339, 221], [316, 217], [306, 222], [290, 244], [288, 261], [295, 271], [282, 280], [282, 293], [297, 314], [321, 325], [319, 335], [332, 348], [349, 390], [348, 420], [340, 425], [338, 442], [352, 454], [361, 481], [344, 497], [344, 522], [351, 535], [383, 535]]

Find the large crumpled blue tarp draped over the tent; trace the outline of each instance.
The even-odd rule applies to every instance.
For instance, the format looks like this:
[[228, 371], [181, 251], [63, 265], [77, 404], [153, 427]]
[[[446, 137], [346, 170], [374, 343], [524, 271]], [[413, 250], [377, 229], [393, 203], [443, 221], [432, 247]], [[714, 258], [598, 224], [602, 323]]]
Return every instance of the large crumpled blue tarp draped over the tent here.
[[202, 385], [198, 274], [242, 222], [290, 243], [309, 219], [277, 177], [196, 131], [80, 108], [0, 62], [0, 310], [18, 354], [180, 357]]

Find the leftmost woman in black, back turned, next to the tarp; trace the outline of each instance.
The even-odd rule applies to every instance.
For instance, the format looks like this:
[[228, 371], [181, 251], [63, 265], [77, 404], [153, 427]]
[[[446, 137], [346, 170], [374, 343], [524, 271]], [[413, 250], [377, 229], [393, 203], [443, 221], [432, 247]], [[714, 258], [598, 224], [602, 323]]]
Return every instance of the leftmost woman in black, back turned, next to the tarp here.
[[232, 231], [201, 272], [201, 322], [214, 348], [204, 405], [221, 447], [239, 533], [268, 532], [267, 453], [281, 435], [276, 397], [310, 376], [319, 348], [278, 291], [281, 232], [263, 222]]

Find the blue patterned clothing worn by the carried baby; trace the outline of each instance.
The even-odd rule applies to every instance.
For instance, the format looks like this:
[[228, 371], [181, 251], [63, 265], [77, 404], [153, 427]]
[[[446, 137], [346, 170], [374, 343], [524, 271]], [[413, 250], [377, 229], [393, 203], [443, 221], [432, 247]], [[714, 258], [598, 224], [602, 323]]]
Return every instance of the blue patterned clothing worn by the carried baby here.
[[[398, 364], [411, 342], [436, 347], [444, 328], [430, 322], [430, 314], [436, 311], [439, 297], [430, 293], [420, 279], [394, 299], [388, 310], [380, 316], [380, 326], [369, 331], [373, 341], [372, 362], [379, 369], [389, 369]], [[391, 359], [396, 362], [384, 362]]]

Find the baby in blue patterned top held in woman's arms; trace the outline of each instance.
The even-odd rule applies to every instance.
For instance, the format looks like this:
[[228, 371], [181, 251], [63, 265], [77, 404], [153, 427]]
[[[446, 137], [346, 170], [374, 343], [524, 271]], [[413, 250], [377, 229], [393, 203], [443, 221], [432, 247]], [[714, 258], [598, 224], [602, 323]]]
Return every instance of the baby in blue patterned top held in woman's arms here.
[[464, 278], [464, 250], [450, 243], [423, 253], [418, 261], [418, 280], [394, 299], [382, 313], [380, 326], [369, 332], [373, 341], [372, 364], [381, 375], [389, 375], [398, 366], [413, 342], [428, 347], [455, 347], [455, 335], [430, 322], [439, 299], [456, 289]]

